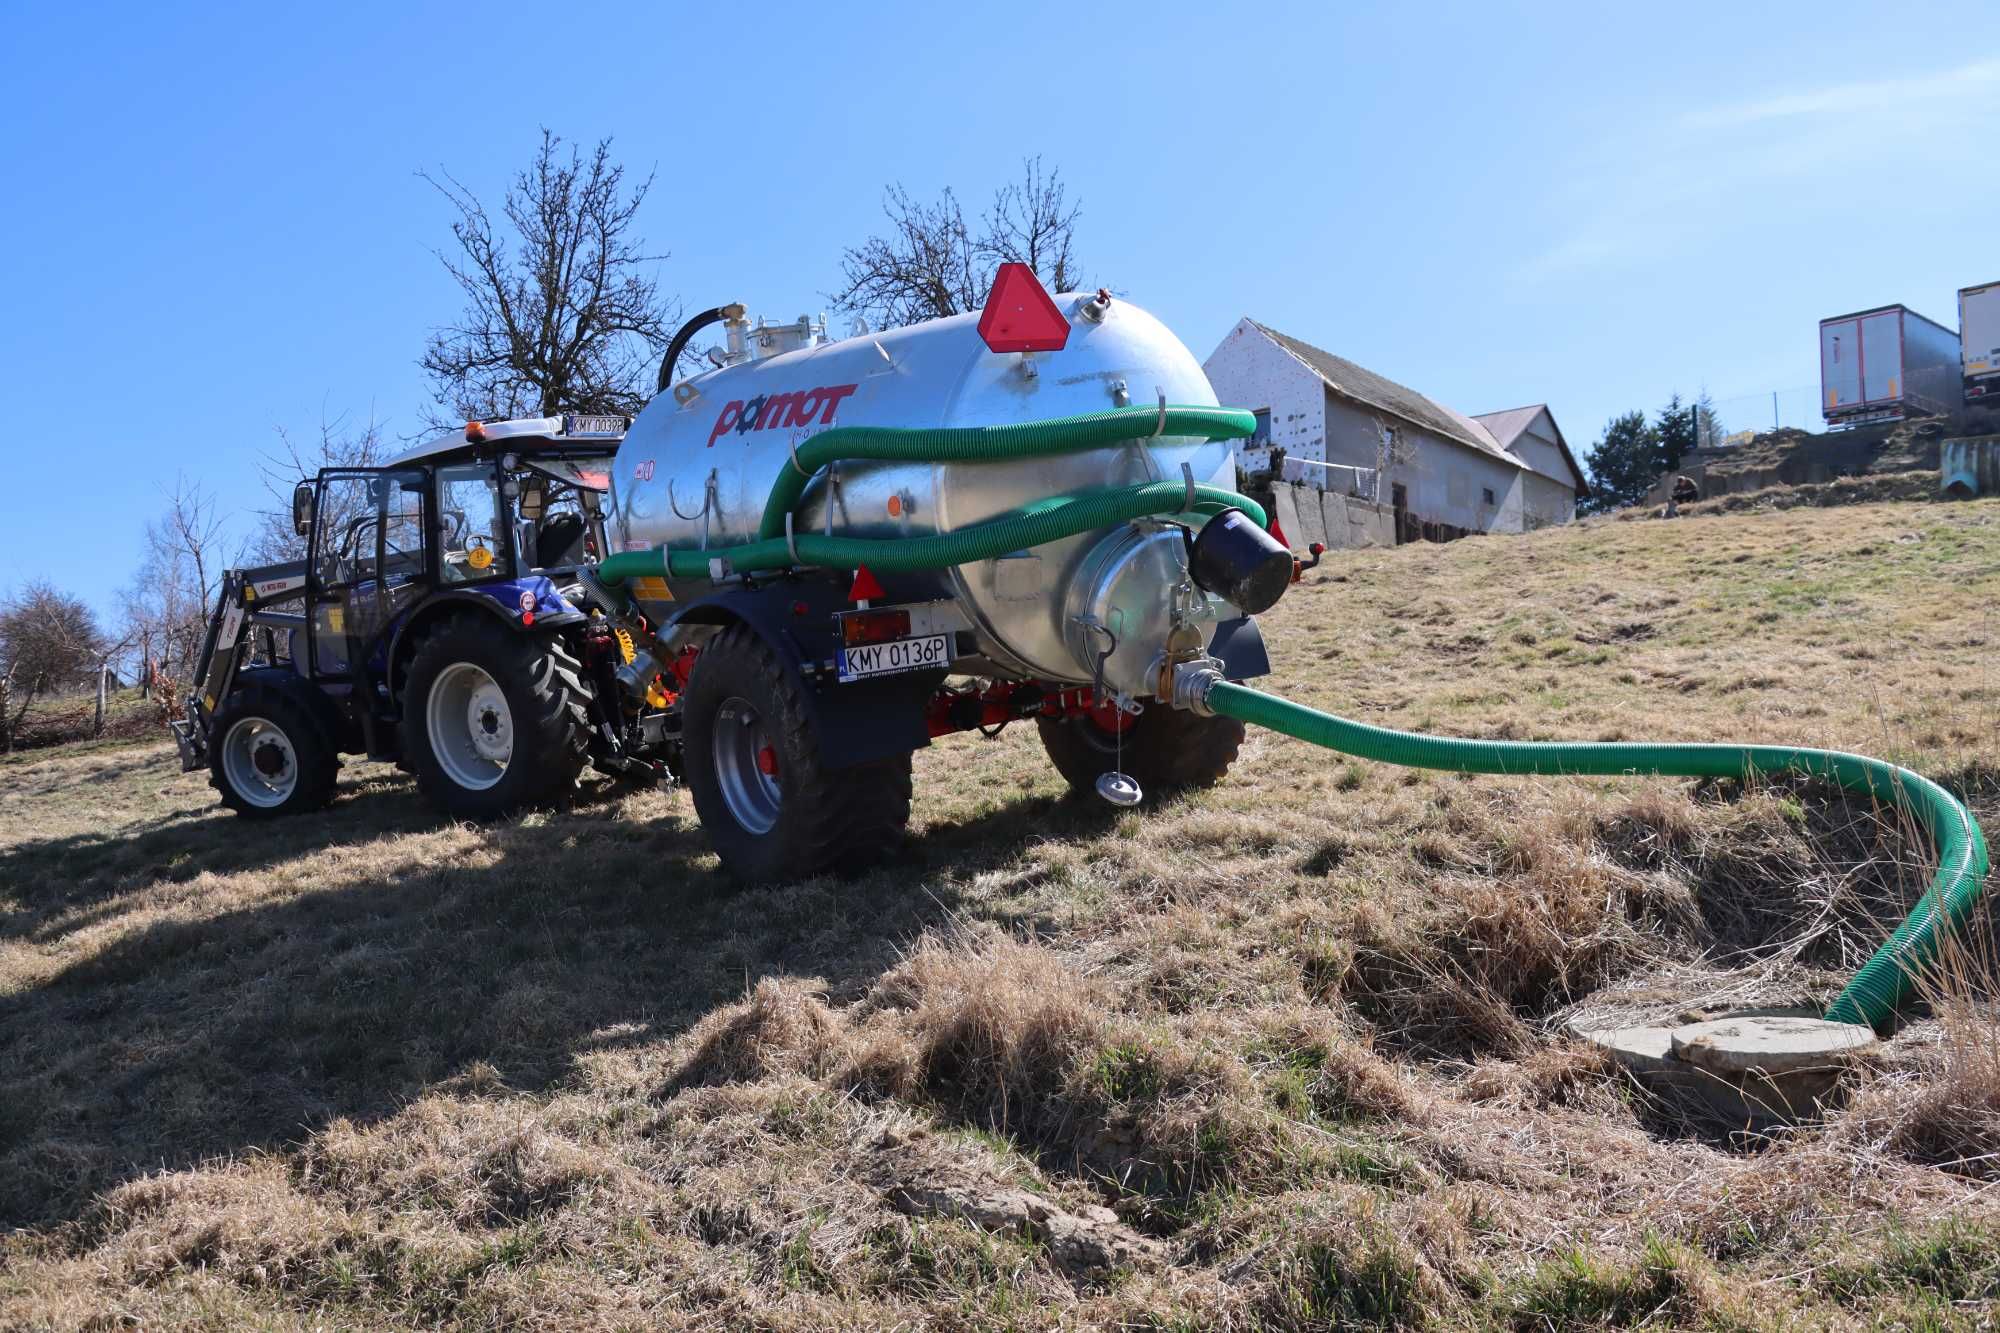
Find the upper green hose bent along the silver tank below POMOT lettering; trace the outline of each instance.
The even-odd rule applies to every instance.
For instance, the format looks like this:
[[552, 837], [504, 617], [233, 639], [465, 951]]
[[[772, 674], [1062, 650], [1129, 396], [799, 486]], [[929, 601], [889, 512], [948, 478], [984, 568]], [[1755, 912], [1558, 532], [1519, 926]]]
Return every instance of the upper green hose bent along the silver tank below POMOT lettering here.
[[[766, 408], [768, 410], [768, 408]], [[1004, 462], [1078, 454], [1112, 444], [1184, 444], [1196, 440], [1248, 440], [1256, 416], [1242, 408], [1128, 406], [1078, 416], [1050, 416], [996, 426], [834, 426], [798, 446], [798, 464], [784, 468], [764, 500], [758, 536], [784, 536], [784, 516], [806, 494], [806, 482], [828, 462]], [[1016, 546], [1014, 550], [1020, 550]], [[956, 560], [954, 560], [956, 562]], [[870, 562], [870, 568], [874, 564]]]

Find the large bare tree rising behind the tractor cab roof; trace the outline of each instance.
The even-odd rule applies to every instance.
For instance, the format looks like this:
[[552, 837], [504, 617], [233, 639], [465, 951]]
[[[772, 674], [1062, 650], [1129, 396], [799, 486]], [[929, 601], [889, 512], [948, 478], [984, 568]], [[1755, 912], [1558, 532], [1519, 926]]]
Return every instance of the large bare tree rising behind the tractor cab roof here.
[[612, 140], [588, 158], [542, 130], [534, 162], [502, 200], [504, 232], [448, 172], [418, 172], [458, 210], [456, 254], [438, 258], [466, 294], [456, 324], [424, 348], [436, 402], [460, 420], [636, 412], [674, 302], [650, 276], [664, 254], [634, 236], [652, 176], [624, 190]]

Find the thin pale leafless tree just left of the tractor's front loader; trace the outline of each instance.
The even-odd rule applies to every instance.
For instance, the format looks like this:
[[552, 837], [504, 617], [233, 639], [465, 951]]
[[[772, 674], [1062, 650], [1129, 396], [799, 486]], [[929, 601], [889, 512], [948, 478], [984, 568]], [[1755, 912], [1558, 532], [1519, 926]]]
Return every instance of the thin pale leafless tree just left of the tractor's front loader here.
[[140, 675], [186, 675], [202, 650], [208, 610], [224, 564], [224, 516], [200, 482], [174, 478], [166, 508], [146, 524], [138, 572], [124, 592], [132, 642], [142, 644]]

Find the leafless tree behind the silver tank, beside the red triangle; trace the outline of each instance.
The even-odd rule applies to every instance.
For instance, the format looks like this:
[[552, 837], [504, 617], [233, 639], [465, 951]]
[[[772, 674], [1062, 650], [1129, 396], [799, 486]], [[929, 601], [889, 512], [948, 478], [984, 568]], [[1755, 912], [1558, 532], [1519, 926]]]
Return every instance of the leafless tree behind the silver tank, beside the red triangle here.
[[1056, 168], [1042, 170], [1042, 158], [1024, 160], [1022, 178], [994, 192], [978, 234], [950, 186], [928, 204], [900, 184], [888, 186], [882, 216], [888, 234], [842, 252], [846, 286], [834, 294], [834, 304], [878, 328], [980, 308], [1002, 262], [1028, 264], [1052, 292], [1082, 284], [1076, 262], [1082, 208], [1070, 202]]

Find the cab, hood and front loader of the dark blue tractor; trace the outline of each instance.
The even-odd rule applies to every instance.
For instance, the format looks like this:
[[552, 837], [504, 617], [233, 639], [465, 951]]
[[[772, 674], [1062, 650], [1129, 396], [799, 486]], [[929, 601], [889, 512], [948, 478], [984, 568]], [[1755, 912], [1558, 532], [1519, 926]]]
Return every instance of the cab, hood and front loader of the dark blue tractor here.
[[390, 759], [402, 751], [402, 683], [430, 630], [466, 614], [508, 632], [580, 622], [564, 588], [608, 550], [602, 496], [624, 430], [622, 416], [470, 422], [384, 466], [298, 482], [304, 558], [224, 576], [188, 717], [174, 725], [182, 765], [222, 765], [226, 801], [254, 807], [276, 789], [288, 799], [294, 767], [268, 735], [236, 747], [248, 747], [236, 769], [224, 763], [232, 751], [212, 753], [214, 721], [242, 687], [288, 693], [334, 751]]

